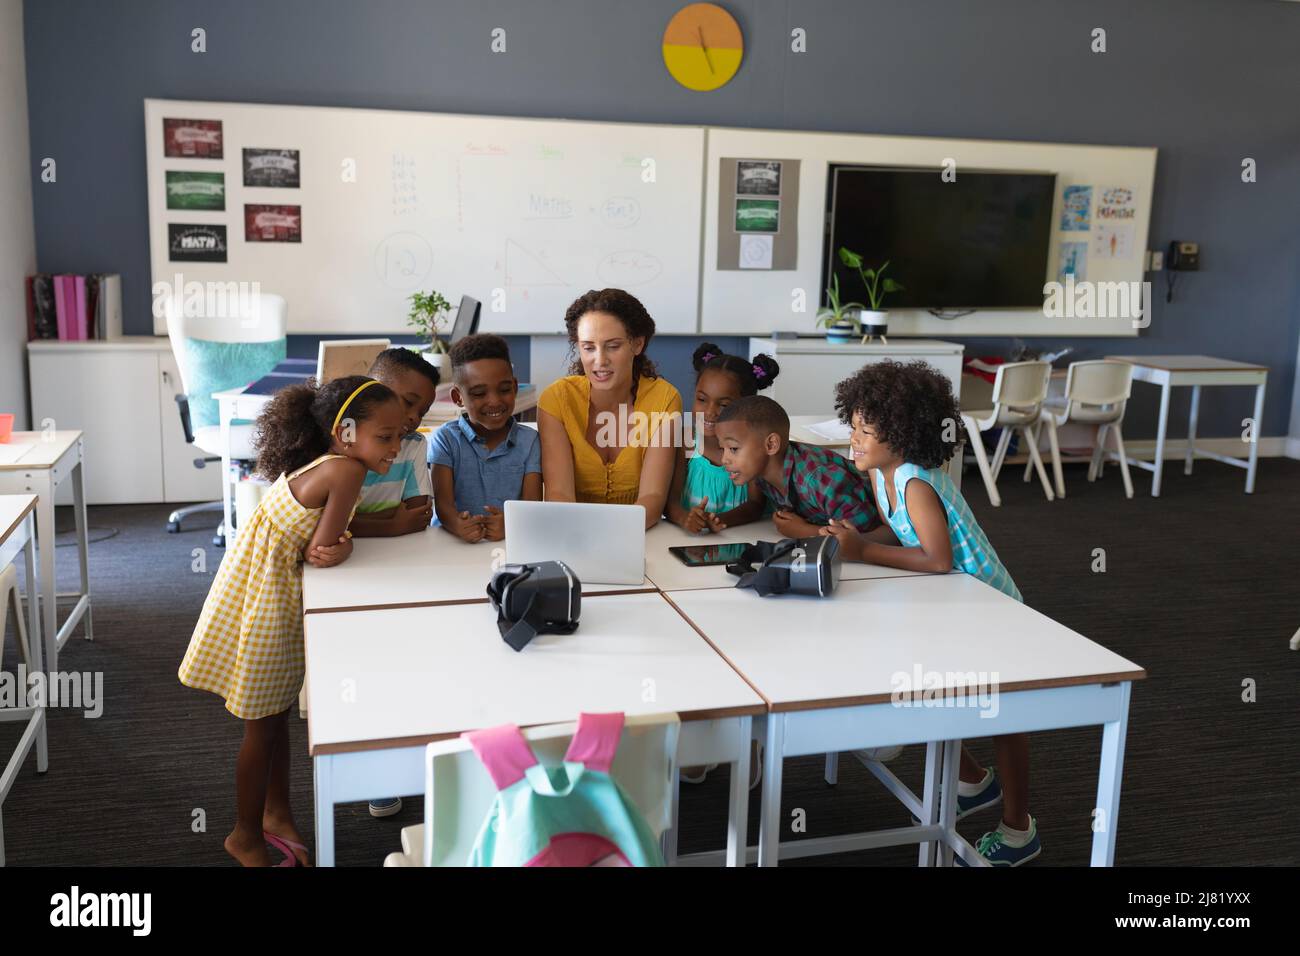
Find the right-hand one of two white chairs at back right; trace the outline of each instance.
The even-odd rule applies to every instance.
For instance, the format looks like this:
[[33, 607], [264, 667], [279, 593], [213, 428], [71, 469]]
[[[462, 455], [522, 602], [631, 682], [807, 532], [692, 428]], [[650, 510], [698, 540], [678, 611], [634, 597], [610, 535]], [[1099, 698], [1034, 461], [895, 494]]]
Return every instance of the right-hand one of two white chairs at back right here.
[[[1134, 367], [1127, 362], [1071, 362], [1065, 378], [1063, 411], [1061, 403], [1045, 403], [1040, 415], [1040, 427], [1048, 427], [1048, 440], [1052, 444], [1052, 475], [1056, 477], [1057, 494], [1065, 497], [1065, 477], [1061, 473], [1061, 446], [1057, 441], [1057, 428], [1075, 421], [1097, 425], [1097, 441], [1092, 447], [1092, 462], [1088, 464], [1088, 480], [1096, 481], [1105, 462], [1106, 437], [1115, 436], [1115, 457], [1124, 479], [1124, 494], [1134, 497], [1134, 483], [1128, 476], [1128, 455], [1124, 451], [1124, 438], [1119, 424], [1124, 419], [1124, 407], [1132, 389]], [[1035, 444], [1037, 444], [1035, 441]], [[1030, 480], [1030, 466], [1024, 466], [1024, 480]]]

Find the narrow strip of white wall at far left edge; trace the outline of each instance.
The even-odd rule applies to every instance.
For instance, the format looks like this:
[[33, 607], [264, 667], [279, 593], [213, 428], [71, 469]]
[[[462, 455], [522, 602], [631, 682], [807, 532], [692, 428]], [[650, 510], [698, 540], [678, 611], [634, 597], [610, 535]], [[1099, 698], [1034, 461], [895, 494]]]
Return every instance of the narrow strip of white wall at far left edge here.
[[22, 0], [0, 0], [0, 412], [27, 427], [27, 293], [36, 271]]

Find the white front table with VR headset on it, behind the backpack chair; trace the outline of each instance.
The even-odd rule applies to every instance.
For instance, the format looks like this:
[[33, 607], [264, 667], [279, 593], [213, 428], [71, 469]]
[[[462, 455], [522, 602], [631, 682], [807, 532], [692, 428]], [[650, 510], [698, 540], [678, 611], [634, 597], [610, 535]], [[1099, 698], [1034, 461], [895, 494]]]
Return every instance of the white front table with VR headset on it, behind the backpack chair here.
[[744, 858], [751, 721], [766, 705], [663, 596], [584, 597], [575, 633], [520, 653], [482, 604], [308, 614], [304, 631], [317, 865], [334, 862], [335, 804], [424, 792], [425, 744], [581, 711], [677, 713], [681, 765], [733, 765], [727, 852]]

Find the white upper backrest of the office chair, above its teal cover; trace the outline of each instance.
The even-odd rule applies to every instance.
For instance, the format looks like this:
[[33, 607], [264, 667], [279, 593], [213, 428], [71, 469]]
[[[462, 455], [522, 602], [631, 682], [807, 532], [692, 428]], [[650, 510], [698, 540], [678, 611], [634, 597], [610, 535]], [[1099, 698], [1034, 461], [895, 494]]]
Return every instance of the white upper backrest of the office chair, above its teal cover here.
[[[285, 297], [266, 293], [212, 295], [204, 302], [194, 303], [169, 295], [162, 312], [166, 316], [172, 354], [181, 371], [181, 384], [187, 393], [194, 390], [192, 382], [199, 375], [191, 364], [186, 339], [277, 342], [283, 339], [289, 330], [289, 306]], [[270, 368], [273, 367], [274, 363]], [[264, 371], [269, 372], [270, 368]]]

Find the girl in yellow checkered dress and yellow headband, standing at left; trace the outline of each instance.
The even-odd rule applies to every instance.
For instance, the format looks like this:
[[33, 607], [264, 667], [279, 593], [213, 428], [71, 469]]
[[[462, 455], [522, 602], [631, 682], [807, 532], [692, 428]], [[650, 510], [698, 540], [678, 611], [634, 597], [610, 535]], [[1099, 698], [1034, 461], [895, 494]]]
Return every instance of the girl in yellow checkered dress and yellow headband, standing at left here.
[[181, 683], [212, 691], [244, 721], [238, 819], [226, 852], [244, 866], [306, 864], [289, 809], [289, 709], [303, 685], [303, 561], [338, 564], [365, 472], [387, 472], [404, 411], [364, 376], [276, 393], [257, 419], [257, 470], [276, 484], [239, 525], [181, 662]]

